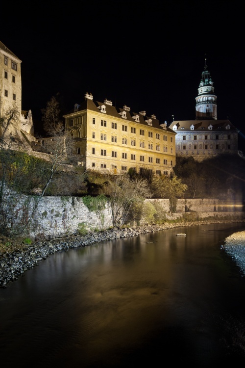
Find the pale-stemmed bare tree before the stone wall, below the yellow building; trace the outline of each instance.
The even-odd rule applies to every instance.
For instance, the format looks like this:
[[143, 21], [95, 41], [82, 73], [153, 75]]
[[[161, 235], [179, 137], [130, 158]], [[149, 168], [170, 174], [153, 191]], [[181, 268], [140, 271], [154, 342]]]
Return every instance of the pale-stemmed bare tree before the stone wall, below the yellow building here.
[[151, 197], [147, 180], [131, 180], [128, 174], [108, 175], [102, 191], [107, 196], [113, 226], [124, 224], [135, 200]]

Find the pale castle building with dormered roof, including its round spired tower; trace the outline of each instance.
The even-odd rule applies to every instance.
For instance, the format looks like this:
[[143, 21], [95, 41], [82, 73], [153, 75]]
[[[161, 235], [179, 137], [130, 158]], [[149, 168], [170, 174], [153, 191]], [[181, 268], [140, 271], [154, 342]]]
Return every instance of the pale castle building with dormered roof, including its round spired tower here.
[[217, 96], [206, 59], [196, 97], [196, 120], [173, 121], [170, 128], [177, 133], [177, 156], [203, 161], [224, 153], [238, 154], [239, 131], [228, 119], [218, 120]]

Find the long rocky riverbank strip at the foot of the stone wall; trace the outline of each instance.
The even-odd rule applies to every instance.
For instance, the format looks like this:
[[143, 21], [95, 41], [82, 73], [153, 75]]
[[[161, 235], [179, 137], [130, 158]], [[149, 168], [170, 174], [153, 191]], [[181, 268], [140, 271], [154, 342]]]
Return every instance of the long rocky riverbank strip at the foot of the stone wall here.
[[0, 252], [0, 288], [6, 288], [11, 282], [18, 280], [25, 273], [25, 271], [38, 265], [42, 260], [47, 259], [55, 252], [67, 251], [72, 248], [84, 247], [118, 238], [136, 237], [140, 234], [153, 233], [177, 227], [233, 222], [245, 222], [245, 220], [238, 221], [214, 219], [193, 222], [164, 223], [124, 229], [113, 228], [103, 232], [88, 233], [85, 236], [76, 234], [44, 241], [36, 241], [35, 243], [29, 245], [19, 244], [18, 246], [18, 242], [15, 242], [11, 244], [11, 248], [9, 244], [7, 250], [1, 250]]

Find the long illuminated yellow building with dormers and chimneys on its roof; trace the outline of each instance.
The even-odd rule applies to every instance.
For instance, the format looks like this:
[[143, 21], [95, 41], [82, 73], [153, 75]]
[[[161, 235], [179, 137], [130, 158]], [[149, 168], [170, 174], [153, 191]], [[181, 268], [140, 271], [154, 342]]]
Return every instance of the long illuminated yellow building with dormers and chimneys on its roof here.
[[107, 99], [93, 101], [92, 94], [84, 97], [64, 118], [85, 169], [114, 174], [130, 168], [150, 169], [154, 174], [172, 175], [176, 133], [166, 122], [159, 124], [155, 115], [131, 112], [126, 105], [117, 108]]

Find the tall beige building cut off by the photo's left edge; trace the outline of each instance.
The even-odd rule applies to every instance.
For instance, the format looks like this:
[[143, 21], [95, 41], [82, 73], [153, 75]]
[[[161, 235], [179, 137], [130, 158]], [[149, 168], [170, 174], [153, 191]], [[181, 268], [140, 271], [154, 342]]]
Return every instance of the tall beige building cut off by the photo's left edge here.
[[22, 61], [0, 41], [0, 117], [16, 106], [19, 112], [16, 127], [10, 126], [9, 133], [16, 135], [21, 129], [34, 134], [31, 110], [22, 111]]

